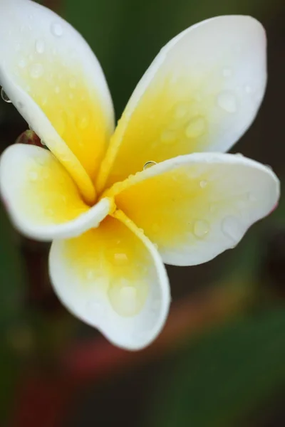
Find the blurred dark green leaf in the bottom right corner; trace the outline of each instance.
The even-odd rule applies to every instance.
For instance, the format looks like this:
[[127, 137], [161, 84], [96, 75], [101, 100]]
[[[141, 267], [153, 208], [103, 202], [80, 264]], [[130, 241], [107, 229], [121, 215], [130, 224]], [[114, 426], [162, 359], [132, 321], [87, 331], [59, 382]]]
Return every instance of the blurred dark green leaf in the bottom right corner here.
[[[285, 310], [247, 315], [178, 355], [153, 427], [233, 427], [285, 383]], [[237, 424], [236, 424], [237, 423]]]

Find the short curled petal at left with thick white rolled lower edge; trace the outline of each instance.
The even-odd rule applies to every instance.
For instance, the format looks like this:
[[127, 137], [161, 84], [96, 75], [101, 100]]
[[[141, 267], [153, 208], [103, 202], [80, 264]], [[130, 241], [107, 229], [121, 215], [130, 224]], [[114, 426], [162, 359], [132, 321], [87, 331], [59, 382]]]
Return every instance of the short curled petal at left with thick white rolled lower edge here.
[[19, 231], [41, 241], [78, 236], [111, 209], [108, 199], [86, 205], [56, 157], [31, 145], [14, 144], [2, 154], [0, 190]]

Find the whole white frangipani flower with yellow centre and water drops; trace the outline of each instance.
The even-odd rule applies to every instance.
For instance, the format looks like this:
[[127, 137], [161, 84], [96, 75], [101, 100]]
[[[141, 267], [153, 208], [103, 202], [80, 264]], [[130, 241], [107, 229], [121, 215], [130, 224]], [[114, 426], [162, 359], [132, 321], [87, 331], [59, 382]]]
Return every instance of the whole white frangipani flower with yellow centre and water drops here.
[[98, 60], [66, 21], [30, 0], [0, 0], [0, 40], [0, 83], [48, 147], [2, 154], [9, 214], [26, 236], [53, 242], [51, 282], [63, 304], [111, 342], [140, 349], [167, 317], [163, 263], [211, 260], [279, 199], [268, 167], [219, 154], [264, 96], [264, 29], [219, 16], [180, 33], [115, 130]]

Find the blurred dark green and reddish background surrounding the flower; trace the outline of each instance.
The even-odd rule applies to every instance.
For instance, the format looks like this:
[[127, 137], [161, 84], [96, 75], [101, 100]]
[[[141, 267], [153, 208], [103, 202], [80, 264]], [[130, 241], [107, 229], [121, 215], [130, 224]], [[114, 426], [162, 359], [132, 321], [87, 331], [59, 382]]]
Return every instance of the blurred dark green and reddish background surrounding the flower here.
[[[197, 21], [251, 14], [266, 28], [269, 85], [233, 152], [284, 172], [283, 0], [46, 0], [100, 60], [117, 117], [160, 48]], [[1, 151], [26, 124], [0, 104]], [[115, 349], [61, 307], [48, 245], [0, 211], [0, 425], [285, 426], [285, 201], [205, 265], [167, 268], [170, 318], [143, 352]]]

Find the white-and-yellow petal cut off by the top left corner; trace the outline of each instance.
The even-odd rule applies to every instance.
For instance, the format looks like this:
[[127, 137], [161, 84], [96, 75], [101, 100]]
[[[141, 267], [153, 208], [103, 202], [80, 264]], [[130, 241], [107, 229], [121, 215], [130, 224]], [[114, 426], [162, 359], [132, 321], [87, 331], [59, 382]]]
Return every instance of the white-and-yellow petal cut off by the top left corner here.
[[0, 1], [0, 83], [36, 134], [92, 199], [113, 132], [98, 60], [60, 16], [29, 0]]

